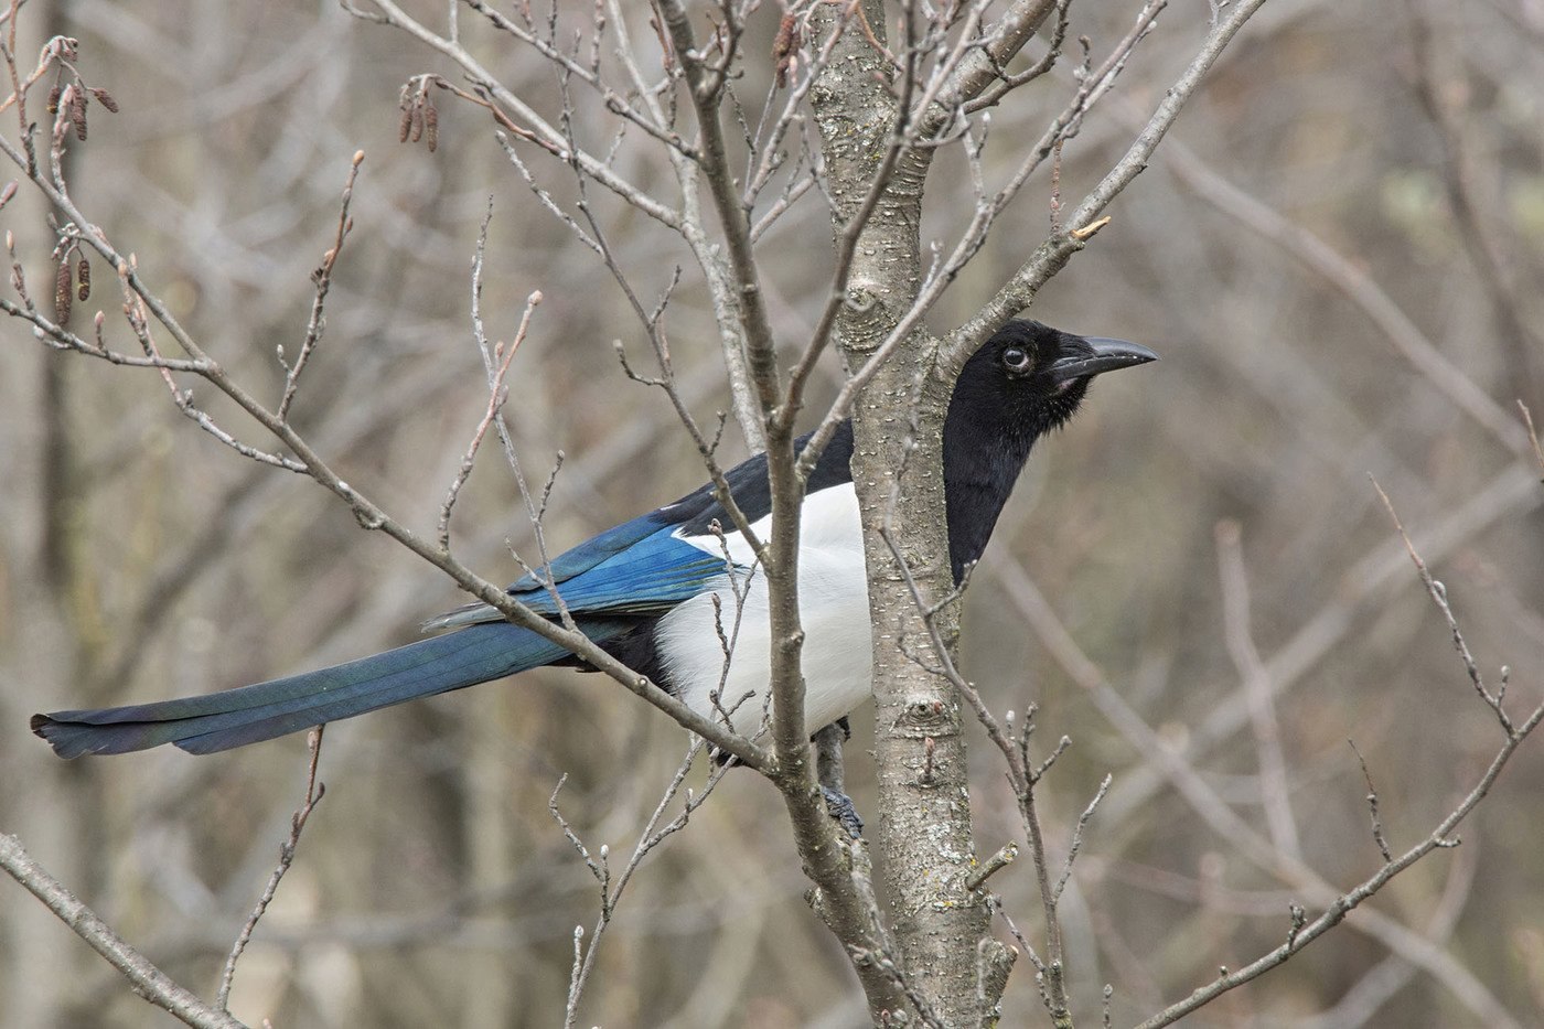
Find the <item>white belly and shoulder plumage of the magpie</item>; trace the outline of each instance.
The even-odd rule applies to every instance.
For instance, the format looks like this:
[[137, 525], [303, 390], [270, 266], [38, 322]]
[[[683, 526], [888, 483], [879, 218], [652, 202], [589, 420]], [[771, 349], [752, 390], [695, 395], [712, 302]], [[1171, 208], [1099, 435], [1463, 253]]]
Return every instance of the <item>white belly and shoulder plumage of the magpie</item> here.
[[[770, 518], [752, 525], [767, 538]], [[740, 533], [682, 536], [686, 542], [723, 556], [727, 547], [735, 564], [750, 564], [750, 548]], [[736, 599], [726, 573], [706, 593], [693, 596], [659, 620], [655, 643], [670, 681], [693, 709], [712, 717], [712, 691], [721, 705], [735, 708], [738, 732], [753, 734], [761, 725], [770, 674], [772, 633], [767, 620], [766, 576], [736, 573], [743, 596]], [[720, 598], [715, 615], [712, 596]], [[863, 570], [863, 538], [857, 494], [852, 485], [831, 487], [804, 501], [798, 550], [800, 621], [804, 627], [804, 723], [809, 731], [826, 726], [857, 708], [871, 691], [871, 626], [868, 579]], [[738, 632], [736, 632], [738, 612]], [[716, 623], [716, 624], [715, 624]], [[732, 640], [726, 655], [718, 629]]]

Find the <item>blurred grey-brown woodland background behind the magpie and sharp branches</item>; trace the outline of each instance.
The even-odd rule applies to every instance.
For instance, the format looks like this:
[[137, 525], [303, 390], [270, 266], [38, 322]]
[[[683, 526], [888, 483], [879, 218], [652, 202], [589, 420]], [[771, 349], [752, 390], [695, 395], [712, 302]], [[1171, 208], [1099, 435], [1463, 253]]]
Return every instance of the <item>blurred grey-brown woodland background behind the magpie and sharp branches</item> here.
[[[414, 9], [443, 25], [442, 5]], [[1136, 6], [1079, 0], [1072, 11], [1072, 34], [1098, 59]], [[1064, 198], [1124, 151], [1207, 17], [1198, 0], [1160, 17], [1067, 145]], [[460, 19], [479, 59], [551, 116], [551, 68], [472, 12]], [[489, 335], [510, 338], [527, 295], [545, 295], [506, 416], [533, 481], [565, 454], [550, 544], [701, 481], [664, 394], [618, 366], [613, 340], [650, 366], [619, 289], [536, 201], [485, 111], [438, 94], [437, 151], [397, 142], [409, 76], [460, 82], [423, 45], [326, 2], [39, 2], [22, 28], [23, 63], [48, 34], [79, 37], [86, 80], [122, 107], [91, 108], [90, 141], [73, 147], [76, 201], [262, 397], [276, 400], [283, 383], [275, 346], [300, 346], [307, 277], [332, 246], [349, 159], [364, 150], [327, 332], [293, 417], [400, 519], [432, 531], [486, 403], [468, 309], [489, 196]], [[772, 5], [750, 22], [740, 88], [753, 110], [775, 28]], [[650, 51], [645, 19], [633, 31]], [[988, 175], [1011, 173], [1073, 88], [1064, 68], [994, 111]], [[581, 114], [594, 114], [593, 97], [577, 96]], [[1220, 831], [1217, 811], [1170, 785], [1150, 760], [1156, 746], [1186, 756], [1277, 850], [1346, 888], [1380, 864], [1348, 739], [1396, 851], [1431, 831], [1501, 745], [1370, 474], [1447, 584], [1487, 681], [1510, 666], [1518, 712], [1544, 692], [1544, 487], [1516, 409], [1525, 400], [1544, 416], [1541, 105], [1539, 0], [1272, 0], [1110, 209], [1112, 224], [1030, 312], [1163, 355], [1101, 380], [1078, 420], [1041, 445], [967, 604], [967, 672], [984, 695], [999, 711], [1038, 703], [1042, 748], [1072, 737], [1039, 794], [1058, 853], [1113, 776], [1064, 901], [1084, 1021], [1098, 1018], [1106, 983], [1116, 1021], [1135, 1021], [1277, 946], [1291, 902], [1317, 913]], [[611, 131], [577, 125], [602, 150]], [[527, 161], [571, 204], [562, 165]], [[641, 136], [622, 141], [618, 167], [670, 196], [669, 168]], [[967, 181], [957, 151], [940, 156], [925, 243], [950, 246], [971, 210]], [[710, 422], [727, 389], [699, 273], [678, 241], [590, 193], [647, 295], [686, 266], [670, 345], [682, 394]], [[1048, 176], [1025, 188], [929, 315], [934, 331], [1028, 256], [1048, 196]], [[51, 281], [52, 243], [26, 188], [3, 226], [46, 297], [37, 284]], [[761, 241], [789, 352], [824, 295], [829, 232], [824, 205], [806, 198]], [[102, 307], [110, 338], [131, 348], [111, 272], [94, 272], [77, 324]], [[45, 351], [19, 323], [0, 335], [0, 828], [212, 997], [301, 799], [304, 739], [63, 763], [28, 715], [346, 660], [411, 640], [422, 618], [463, 598], [309, 481], [198, 431], [156, 374]], [[834, 357], [823, 374], [829, 397]], [[264, 442], [212, 389], [196, 399]], [[733, 428], [724, 447], [744, 454]], [[534, 553], [493, 448], [457, 507], [454, 541], [500, 581], [519, 575], [508, 545]], [[1248, 698], [1268, 692], [1274, 720], [1258, 705], [1251, 717]], [[1135, 723], [1118, 722], [1112, 695]], [[848, 785], [872, 813], [866, 711], [854, 729]], [[971, 731], [990, 853], [1022, 830], [999, 759]], [[573, 672], [332, 726], [327, 797], [239, 967], [233, 1014], [278, 1026], [560, 1024], [573, 932], [593, 927], [598, 888], [548, 797], [567, 774], [565, 817], [619, 861], [686, 746], [664, 715]], [[689, 785], [706, 774], [699, 765]], [[1373, 902], [1377, 925], [1353, 919], [1189, 1024], [1541, 1024], [1541, 788], [1544, 743], [1532, 742], [1459, 831], [1462, 847]], [[775, 791], [730, 774], [628, 887], [582, 1024], [863, 1024], [804, 885]], [[993, 885], [1034, 939], [1028, 862]], [[1027, 963], [1005, 1003], [1005, 1024], [1041, 1024]], [[0, 884], [0, 1024], [168, 1021]]]

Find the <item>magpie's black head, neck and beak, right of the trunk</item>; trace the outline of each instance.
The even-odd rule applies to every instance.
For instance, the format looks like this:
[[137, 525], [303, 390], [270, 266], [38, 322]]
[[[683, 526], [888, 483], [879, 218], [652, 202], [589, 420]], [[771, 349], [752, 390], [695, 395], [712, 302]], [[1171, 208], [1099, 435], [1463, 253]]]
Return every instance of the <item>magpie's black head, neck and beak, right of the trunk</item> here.
[[965, 362], [943, 423], [956, 582], [987, 548], [1034, 440], [1076, 414], [1095, 375], [1155, 360], [1156, 354], [1136, 343], [1017, 320]]

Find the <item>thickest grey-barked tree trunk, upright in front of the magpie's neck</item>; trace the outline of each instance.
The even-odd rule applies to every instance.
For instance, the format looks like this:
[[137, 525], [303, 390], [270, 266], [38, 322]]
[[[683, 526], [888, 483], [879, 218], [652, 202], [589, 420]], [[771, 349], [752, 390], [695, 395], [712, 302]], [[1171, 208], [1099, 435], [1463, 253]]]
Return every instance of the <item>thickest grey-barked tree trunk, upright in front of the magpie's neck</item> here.
[[[880, 5], [866, 8], [869, 26], [882, 34]], [[824, 34], [838, 15], [826, 6], [818, 14]], [[883, 56], [855, 26], [848, 28], [812, 93], [838, 219], [852, 216], [868, 195], [900, 114], [886, 87]], [[879, 348], [917, 295], [917, 229], [926, 172], [926, 151], [902, 156], [854, 252], [848, 306], [837, 324], [849, 366]], [[977, 952], [988, 910], [965, 887], [974, 842], [960, 705], [948, 681], [908, 657], [926, 649], [928, 630], [882, 538], [886, 524], [892, 525], [897, 547], [925, 595], [946, 596], [953, 590], [942, 479], [951, 383], [928, 374], [929, 354], [928, 340], [917, 334], [862, 392], [852, 409], [852, 477], [863, 513], [875, 627], [877, 841], [897, 964], [909, 992], [926, 1003], [933, 1017], [965, 1026], [982, 1018]], [[953, 649], [959, 637], [953, 606], [939, 613], [937, 627]], [[985, 946], [991, 950], [990, 942]], [[1001, 993], [1001, 959], [985, 964], [993, 969], [988, 986]], [[990, 1006], [994, 1003], [991, 995]]]

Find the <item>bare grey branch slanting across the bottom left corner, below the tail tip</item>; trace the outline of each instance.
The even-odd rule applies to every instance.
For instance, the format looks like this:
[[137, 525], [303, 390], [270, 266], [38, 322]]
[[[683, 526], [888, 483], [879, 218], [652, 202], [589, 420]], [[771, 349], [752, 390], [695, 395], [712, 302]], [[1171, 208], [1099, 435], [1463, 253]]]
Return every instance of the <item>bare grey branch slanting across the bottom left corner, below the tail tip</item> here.
[[9, 833], [0, 833], [0, 868], [5, 868], [6, 874], [42, 901], [93, 950], [107, 958], [133, 984], [134, 992], [156, 1007], [196, 1029], [245, 1029], [242, 1023], [201, 1001], [191, 990], [174, 983], [134, 950], [113, 932], [111, 925], [97, 918], [96, 912], [77, 901], [69, 890], [48, 874], [46, 868], [32, 861], [22, 848], [22, 841]]

